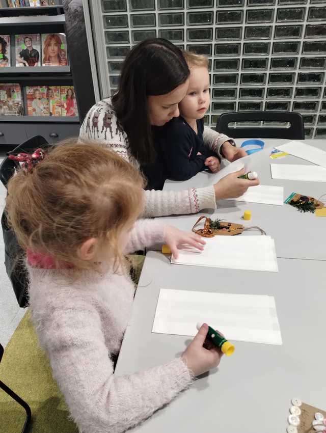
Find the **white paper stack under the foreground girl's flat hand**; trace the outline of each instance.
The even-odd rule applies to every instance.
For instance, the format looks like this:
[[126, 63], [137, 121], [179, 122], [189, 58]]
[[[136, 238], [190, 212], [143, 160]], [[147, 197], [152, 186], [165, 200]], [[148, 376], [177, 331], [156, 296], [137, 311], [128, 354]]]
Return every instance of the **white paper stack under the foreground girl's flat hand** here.
[[275, 242], [270, 236], [214, 236], [205, 241], [200, 254], [180, 251], [171, 263], [278, 272]]

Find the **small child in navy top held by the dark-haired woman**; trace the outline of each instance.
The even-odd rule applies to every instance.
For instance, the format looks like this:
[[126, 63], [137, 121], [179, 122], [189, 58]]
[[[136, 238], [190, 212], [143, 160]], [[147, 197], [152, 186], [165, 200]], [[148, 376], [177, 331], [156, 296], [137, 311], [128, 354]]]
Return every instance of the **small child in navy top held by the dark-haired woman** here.
[[[183, 55], [191, 71], [186, 96], [179, 103], [180, 116], [161, 127], [154, 127], [154, 143], [157, 153], [155, 167], [145, 168], [149, 188], [159, 189], [154, 179], [161, 172], [161, 179], [187, 180], [198, 172], [220, 169], [220, 148], [230, 141], [220, 134], [215, 148], [209, 149], [203, 141], [204, 116], [209, 108], [208, 59], [192, 52]], [[235, 144], [234, 144], [235, 145]], [[152, 170], [154, 169], [154, 172]]]

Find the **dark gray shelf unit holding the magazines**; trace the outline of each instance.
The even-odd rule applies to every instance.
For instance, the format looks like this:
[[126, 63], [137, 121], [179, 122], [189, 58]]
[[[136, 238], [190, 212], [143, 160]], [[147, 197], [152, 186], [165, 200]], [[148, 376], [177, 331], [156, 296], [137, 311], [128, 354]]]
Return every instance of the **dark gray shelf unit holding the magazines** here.
[[[0, 3], [4, 6], [4, 0]], [[61, 3], [61, 2], [58, 2]], [[0, 83], [19, 83], [27, 113], [25, 86], [72, 86], [73, 77], [69, 66], [16, 67], [16, 34], [66, 33], [65, 15], [62, 4], [40, 8], [1, 8], [0, 33], [11, 35], [11, 65], [0, 68]], [[21, 16], [23, 14], [23, 16]], [[69, 43], [68, 56], [69, 56]], [[78, 102], [78, 101], [77, 101]], [[52, 116], [0, 116], [0, 149], [17, 146], [25, 140], [42, 135], [49, 143], [55, 143], [79, 133], [78, 117]]]

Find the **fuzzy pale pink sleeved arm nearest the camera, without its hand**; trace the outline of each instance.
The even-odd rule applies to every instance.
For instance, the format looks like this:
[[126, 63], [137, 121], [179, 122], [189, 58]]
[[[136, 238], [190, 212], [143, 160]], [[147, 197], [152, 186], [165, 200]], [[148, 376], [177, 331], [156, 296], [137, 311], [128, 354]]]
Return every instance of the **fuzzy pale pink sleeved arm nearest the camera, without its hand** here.
[[193, 381], [181, 358], [115, 376], [98, 312], [82, 297], [73, 306], [43, 316], [42, 321], [33, 314], [33, 320], [36, 327], [39, 323], [53, 377], [80, 431], [123, 432], [169, 403]]

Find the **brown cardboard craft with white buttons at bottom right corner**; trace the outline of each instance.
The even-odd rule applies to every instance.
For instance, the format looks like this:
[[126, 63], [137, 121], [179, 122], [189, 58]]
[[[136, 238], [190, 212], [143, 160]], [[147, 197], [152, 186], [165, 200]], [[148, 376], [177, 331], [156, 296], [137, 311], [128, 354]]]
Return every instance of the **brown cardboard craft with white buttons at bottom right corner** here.
[[326, 433], [326, 411], [292, 398], [287, 433]]

